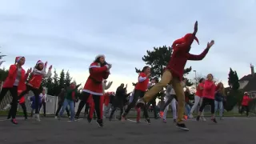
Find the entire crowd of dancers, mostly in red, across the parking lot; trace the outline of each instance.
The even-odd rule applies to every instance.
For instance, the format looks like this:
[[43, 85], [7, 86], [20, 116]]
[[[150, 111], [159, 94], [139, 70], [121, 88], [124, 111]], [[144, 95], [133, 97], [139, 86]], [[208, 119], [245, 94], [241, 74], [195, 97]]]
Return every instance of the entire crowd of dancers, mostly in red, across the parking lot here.
[[[63, 113], [66, 110], [70, 121], [73, 122], [75, 119], [79, 118], [83, 107], [86, 106], [85, 113], [88, 114], [88, 122], [91, 122], [95, 115], [97, 116], [98, 126], [102, 127], [104, 126], [104, 117], [109, 118], [111, 121], [117, 109], [120, 110], [120, 118], [118, 119], [124, 122], [126, 121], [130, 110], [134, 108], [138, 114], [136, 121], [138, 123], [141, 122], [140, 113], [142, 110], [145, 121], [150, 124], [148, 107], [151, 105], [153, 106], [155, 110], [154, 118], [158, 118], [155, 100], [159, 92], [166, 89], [165, 102], [162, 104], [159, 112], [163, 122], [166, 122], [166, 114], [170, 105], [176, 126], [181, 130], [189, 130], [185, 125], [186, 118], [193, 118], [193, 112], [199, 104], [200, 109], [196, 120], [199, 121], [200, 118], [206, 120], [203, 117], [203, 110], [206, 105], [210, 105], [212, 114], [211, 120], [217, 123], [215, 113], [218, 110], [220, 118], [222, 119], [223, 101], [225, 101], [223, 84], [220, 82], [216, 86], [213, 80], [213, 74], [208, 74], [206, 79], [201, 79], [200, 84], [197, 86], [197, 93], [194, 96], [194, 105], [190, 109], [191, 94], [190, 90], [186, 87], [186, 78], [183, 78], [183, 70], [187, 60], [202, 60], [214, 45], [214, 41], [208, 42], [206, 49], [202, 54], [190, 54], [191, 44], [194, 40], [198, 42], [198, 38], [195, 36], [197, 31], [198, 22], [195, 22], [194, 33], [186, 34], [183, 38], [174, 41], [172, 45], [174, 50], [173, 54], [160, 81], [158, 81], [158, 78], [151, 78], [150, 80], [151, 68], [150, 66], [144, 66], [139, 72], [138, 82], [134, 83], [134, 90], [130, 94], [127, 93], [127, 86], [124, 86], [124, 84], [118, 86], [116, 92], [105, 91], [112, 84], [112, 82], [110, 82], [109, 85], [106, 85], [106, 79], [110, 75], [112, 65], [106, 62], [103, 54], [96, 56], [94, 62], [89, 66], [90, 75], [83, 87], [82, 96], [79, 98], [80, 102], [76, 114], [74, 112], [74, 104], [75, 102], [78, 102], [78, 98], [76, 98], [75, 92], [79, 85], [76, 86], [73, 82], [70, 86], [64, 86], [58, 95], [59, 102], [56, 118], [62, 118]], [[44, 90], [40, 89], [40, 85], [42, 83], [42, 78], [49, 78], [51, 76], [52, 66], [50, 66], [46, 72], [47, 62], [44, 63], [39, 60], [33, 70], [30, 69], [25, 71], [22, 68], [24, 63], [25, 57], [20, 56], [15, 58], [14, 65], [10, 66], [8, 77], [2, 86], [0, 94], [0, 102], [2, 102], [7, 91], [10, 91], [10, 94], [13, 97], [12, 102], [9, 105], [10, 113], [8, 118], [11, 117], [10, 121], [14, 124], [18, 124], [16, 121], [18, 102], [22, 106], [25, 118], [27, 118], [24, 97], [29, 91], [34, 93], [34, 97], [30, 98], [33, 109], [31, 114], [35, 113], [34, 118], [37, 121], [40, 121], [40, 107], [46, 107], [46, 96], [43, 96], [45, 93]], [[26, 82], [29, 74], [31, 75], [31, 78]], [[186, 90], [184, 90], [184, 88], [186, 88]], [[251, 98], [245, 95], [242, 102], [242, 110], [246, 110], [247, 114], [248, 102], [250, 100]], [[103, 106], [105, 107], [104, 111]], [[44, 109], [44, 114], [46, 114], [45, 110], [46, 109]]]

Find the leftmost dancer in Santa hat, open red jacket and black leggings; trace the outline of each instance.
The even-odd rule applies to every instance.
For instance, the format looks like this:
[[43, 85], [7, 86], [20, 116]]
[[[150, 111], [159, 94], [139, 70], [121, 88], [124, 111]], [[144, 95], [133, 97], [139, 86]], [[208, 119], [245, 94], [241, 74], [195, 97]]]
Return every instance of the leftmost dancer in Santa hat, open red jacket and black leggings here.
[[22, 68], [24, 63], [25, 57], [20, 56], [15, 58], [14, 65], [10, 66], [8, 76], [3, 83], [0, 93], [0, 103], [8, 91], [10, 91], [10, 94], [13, 97], [10, 114], [12, 117], [11, 122], [14, 124], [18, 124], [15, 119], [18, 107], [18, 90], [21, 90], [24, 86], [26, 87], [26, 78], [31, 72], [31, 69], [25, 72], [25, 70]]

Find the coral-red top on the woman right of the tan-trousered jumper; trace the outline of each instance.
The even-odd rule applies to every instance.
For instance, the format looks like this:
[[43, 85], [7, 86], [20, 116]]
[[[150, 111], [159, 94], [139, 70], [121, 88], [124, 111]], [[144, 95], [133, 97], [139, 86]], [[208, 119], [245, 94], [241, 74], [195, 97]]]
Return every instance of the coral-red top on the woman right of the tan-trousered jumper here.
[[214, 99], [216, 86], [214, 82], [206, 80], [204, 89], [202, 90], [203, 98]]

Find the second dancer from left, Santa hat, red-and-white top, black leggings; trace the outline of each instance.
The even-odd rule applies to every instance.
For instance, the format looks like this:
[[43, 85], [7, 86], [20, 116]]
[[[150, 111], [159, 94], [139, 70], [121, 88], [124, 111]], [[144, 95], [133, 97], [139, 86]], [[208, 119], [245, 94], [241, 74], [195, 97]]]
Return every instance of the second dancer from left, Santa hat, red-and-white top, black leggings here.
[[31, 78], [29, 82], [26, 84], [26, 90], [22, 91], [22, 94], [19, 94], [18, 98], [22, 98], [25, 94], [27, 94], [30, 90], [33, 91], [34, 97], [35, 97], [35, 114], [34, 117], [38, 122], [40, 122], [39, 117], [39, 95], [41, 90], [39, 90], [39, 87], [42, 83], [42, 78], [50, 78], [51, 76], [51, 69], [52, 66], [49, 67], [48, 72], [46, 73], [46, 66], [47, 62], [44, 64], [42, 61], [38, 61], [36, 65], [34, 66], [34, 70], [32, 71]]

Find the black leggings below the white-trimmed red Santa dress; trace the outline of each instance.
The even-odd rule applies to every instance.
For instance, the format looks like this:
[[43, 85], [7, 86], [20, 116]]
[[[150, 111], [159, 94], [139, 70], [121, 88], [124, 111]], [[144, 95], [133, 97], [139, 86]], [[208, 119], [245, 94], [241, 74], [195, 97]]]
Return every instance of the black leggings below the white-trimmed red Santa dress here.
[[[100, 95], [94, 95], [94, 94], [92, 94], [92, 96], [94, 98], [94, 105], [95, 105], [95, 111], [96, 111], [96, 114], [97, 114], [97, 118], [98, 118], [98, 120], [102, 119], [102, 116], [101, 116], [102, 106], [100, 104], [101, 96]], [[78, 111], [75, 114], [75, 117], [77, 117], [77, 118], [79, 117], [79, 115], [82, 111], [82, 108], [83, 108], [83, 106], [86, 105], [86, 102], [87, 102], [89, 97], [90, 97], [90, 93], [82, 92], [82, 99], [81, 99], [81, 102], [79, 103]]]

